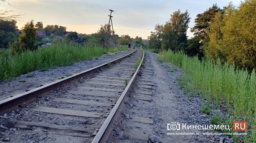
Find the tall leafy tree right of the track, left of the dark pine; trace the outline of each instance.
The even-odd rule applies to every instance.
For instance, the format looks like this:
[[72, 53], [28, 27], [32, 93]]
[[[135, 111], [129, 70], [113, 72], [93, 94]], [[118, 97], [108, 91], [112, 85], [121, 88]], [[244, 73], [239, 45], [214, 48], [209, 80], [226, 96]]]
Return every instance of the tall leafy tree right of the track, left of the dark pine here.
[[188, 11], [182, 13], [180, 10], [171, 14], [170, 21], [163, 28], [162, 49], [180, 51], [187, 43], [187, 29], [190, 22]]

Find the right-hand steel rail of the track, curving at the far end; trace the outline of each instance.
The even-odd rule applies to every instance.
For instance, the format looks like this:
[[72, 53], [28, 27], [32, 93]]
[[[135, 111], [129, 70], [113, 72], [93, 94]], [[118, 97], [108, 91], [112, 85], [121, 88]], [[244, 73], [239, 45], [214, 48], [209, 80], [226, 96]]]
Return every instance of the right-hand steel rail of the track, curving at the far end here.
[[[141, 50], [142, 51], [142, 50]], [[143, 52], [143, 57], [141, 58], [140, 65], [138, 66], [137, 70], [133, 74], [131, 80], [129, 81], [128, 85], [124, 89], [122, 95], [119, 97], [118, 101], [116, 101], [115, 106], [113, 107], [112, 111], [108, 115], [107, 119], [97, 132], [96, 136], [94, 137], [92, 143], [105, 143], [111, 140], [113, 136], [113, 129], [115, 129], [114, 126], [119, 122], [119, 119], [121, 117], [121, 112], [125, 108], [125, 102], [129, 99], [127, 96], [130, 88], [132, 87], [133, 81], [135, 81], [135, 78], [138, 74], [138, 71], [140, 69], [141, 63], [143, 62], [144, 59], [144, 51]]]

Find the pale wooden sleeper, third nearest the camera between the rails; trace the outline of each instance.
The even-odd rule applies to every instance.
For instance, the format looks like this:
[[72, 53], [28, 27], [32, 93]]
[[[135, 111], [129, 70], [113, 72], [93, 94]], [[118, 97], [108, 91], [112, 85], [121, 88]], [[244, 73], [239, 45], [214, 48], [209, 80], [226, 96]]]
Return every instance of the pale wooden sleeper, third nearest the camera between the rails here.
[[104, 103], [104, 102], [95, 102], [95, 101], [86, 101], [86, 100], [76, 100], [76, 99], [66, 99], [66, 98], [55, 98], [51, 101], [55, 102], [62, 102], [62, 103], [71, 103], [77, 105], [96, 105], [96, 106], [111, 106], [111, 103]]

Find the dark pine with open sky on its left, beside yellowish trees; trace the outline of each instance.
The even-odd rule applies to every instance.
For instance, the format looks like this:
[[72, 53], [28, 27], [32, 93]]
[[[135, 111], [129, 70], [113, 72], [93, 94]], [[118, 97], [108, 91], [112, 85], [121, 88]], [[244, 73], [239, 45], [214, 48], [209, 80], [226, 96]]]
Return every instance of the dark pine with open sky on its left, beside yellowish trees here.
[[203, 13], [197, 14], [195, 18], [195, 26], [190, 29], [191, 32], [194, 32], [195, 37], [198, 37], [199, 40], [202, 40], [205, 44], [209, 39], [206, 29], [209, 27], [209, 24], [212, 22], [217, 12], [223, 13], [223, 10], [220, 9], [217, 4], [214, 4]]

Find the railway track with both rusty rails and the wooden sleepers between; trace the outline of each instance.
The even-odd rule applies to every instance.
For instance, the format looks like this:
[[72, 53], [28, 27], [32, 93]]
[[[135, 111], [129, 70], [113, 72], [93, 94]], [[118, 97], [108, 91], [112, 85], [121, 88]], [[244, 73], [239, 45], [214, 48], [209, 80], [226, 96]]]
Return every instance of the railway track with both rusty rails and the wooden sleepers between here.
[[137, 50], [0, 101], [0, 141], [110, 141], [139, 72], [140, 66], [134, 65], [141, 58], [144, 52]]

